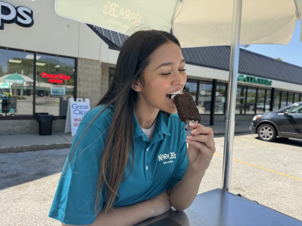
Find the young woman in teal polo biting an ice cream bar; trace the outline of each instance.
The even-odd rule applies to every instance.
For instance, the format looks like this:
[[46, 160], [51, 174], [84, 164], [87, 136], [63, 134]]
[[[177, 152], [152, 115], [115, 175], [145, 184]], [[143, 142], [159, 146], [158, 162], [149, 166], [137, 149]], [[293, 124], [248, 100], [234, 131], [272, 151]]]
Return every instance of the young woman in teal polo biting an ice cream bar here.
[[[133, 225], [193, 202], [215, 152], [213, 131], [186, 137], [169, 93], [187, 77], [178, 40], [138, 31], [123, 44], [113, 81], [74, 137], [49, 216], [62, 225]], [[187, 149], [187, 143], [189, 144]]]

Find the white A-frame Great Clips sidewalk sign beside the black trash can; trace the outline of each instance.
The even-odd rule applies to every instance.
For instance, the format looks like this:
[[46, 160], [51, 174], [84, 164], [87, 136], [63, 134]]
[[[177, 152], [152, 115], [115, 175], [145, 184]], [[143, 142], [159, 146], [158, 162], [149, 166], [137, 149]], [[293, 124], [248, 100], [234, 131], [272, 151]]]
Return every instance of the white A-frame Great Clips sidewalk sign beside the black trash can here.
[[74, 136], [76, 134], [76, 130], [78, 129], [80, 122], [82, 121], [83, 116], [89, 110], [89, 99], [86, 98], [85, 101], [83, 101], [82, 98], [77, 98], [76, 101], [74, 101], [73, 98], [69, 98], [65, 133], [71, 132], [71, 136]]

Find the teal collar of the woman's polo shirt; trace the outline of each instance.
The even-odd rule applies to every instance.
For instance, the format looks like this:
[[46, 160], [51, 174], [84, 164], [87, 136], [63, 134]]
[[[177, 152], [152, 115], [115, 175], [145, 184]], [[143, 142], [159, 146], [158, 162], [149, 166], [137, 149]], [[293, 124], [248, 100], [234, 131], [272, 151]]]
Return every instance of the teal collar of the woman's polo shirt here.
[[[159, 133], [160, 135], [165, 134], [167, 136], [171, 136], [167, 125], [165, 124], [165, 121], [163, 120], [163, 112], [159, 110], [157, 121], [156, 121], [156, 127], [154, 129], [154, 133]], [[135, 113], [133, 111], [133, 129], [134, 129], [134, 138], [143, 136], [142, 130], [140, 129], [140, 125], [138, 124], [137, 118], [135, 116]]]

